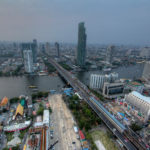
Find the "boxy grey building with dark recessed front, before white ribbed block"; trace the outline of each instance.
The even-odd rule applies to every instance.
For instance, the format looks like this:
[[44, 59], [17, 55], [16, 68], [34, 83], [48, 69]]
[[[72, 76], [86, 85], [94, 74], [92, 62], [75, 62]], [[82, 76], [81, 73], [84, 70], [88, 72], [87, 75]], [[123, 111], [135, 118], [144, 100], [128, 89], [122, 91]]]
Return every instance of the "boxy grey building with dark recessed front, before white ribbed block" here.
[[124, 83], [108, 83], [103, 86], [103, 96], [109, 99], [124, 95]]

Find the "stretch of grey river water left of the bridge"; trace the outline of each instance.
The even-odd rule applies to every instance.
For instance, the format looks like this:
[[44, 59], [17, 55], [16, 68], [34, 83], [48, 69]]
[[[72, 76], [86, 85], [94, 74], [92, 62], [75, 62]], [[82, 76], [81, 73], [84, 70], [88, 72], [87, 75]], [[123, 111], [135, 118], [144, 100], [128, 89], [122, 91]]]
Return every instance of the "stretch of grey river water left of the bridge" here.
[[0, 77], [0, 98], [30, 95], [30, 85], [37, 86], [39, 91], [49, 91], [60, 90], [65, 84], [58, 76]]

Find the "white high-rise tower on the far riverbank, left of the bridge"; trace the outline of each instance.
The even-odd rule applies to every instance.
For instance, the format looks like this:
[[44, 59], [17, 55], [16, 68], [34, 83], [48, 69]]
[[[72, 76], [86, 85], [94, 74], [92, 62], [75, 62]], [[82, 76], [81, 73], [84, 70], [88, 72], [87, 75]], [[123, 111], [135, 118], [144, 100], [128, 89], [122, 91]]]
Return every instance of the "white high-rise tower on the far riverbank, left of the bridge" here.
[[32, 50], [24, 50], [23, 51], [24, 56], [24, 68], [25, 72], [32, 73], [33, 70], [33, 56], [32, 56]]

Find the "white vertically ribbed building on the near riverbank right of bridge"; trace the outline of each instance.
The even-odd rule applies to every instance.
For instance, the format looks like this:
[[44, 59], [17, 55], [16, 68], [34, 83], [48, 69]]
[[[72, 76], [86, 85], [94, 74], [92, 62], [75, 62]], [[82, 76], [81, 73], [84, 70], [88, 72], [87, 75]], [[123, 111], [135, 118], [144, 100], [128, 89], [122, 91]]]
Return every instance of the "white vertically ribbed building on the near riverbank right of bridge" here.
[[114, 82], [118, 79], [118, 73], [111, 73], [109, 75], [91, 74], [90, 88], [102, 89], [104, 82]]

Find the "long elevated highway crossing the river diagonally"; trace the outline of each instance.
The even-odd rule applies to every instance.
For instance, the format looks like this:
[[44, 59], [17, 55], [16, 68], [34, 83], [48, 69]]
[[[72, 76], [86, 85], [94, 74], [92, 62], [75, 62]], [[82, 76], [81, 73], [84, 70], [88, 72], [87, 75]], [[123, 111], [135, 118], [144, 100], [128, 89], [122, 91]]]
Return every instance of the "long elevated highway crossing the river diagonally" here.
[[[145, 150], [145, 145], [138, 142], [137, 139], [134, 139], [131, 137], [131, 135], [128, 134], [127, 131], [124, 131], [124, 129], [117, 128], [117, 123], [113, 123], [114, 121], [111, 121], [112, 119], [104, 113], [104, 111], [96, 106], [92, 101], [92, 93], [89, 91], [89, 89], [81, 83], [74, 75], [72, 75], [70, 72], [62, 68], [56, 61], [49, 58], [49, 63], [51, 63], [59, 72], [59, 74], [74, 88], [75, 91], [77, 91], [80, 96], [89, 104], [89, 106], [96, 112], [96, 114], [103, 120], [103, 122], [107, 125], [107, 127], [113, 132], [113, 134], [122, 141], [123, 145], [128, 150]], [[94, 95], [93, 95], [94, 96]], [[99, 102], [100, 103], [100, 102]], [[126, 130], [128, 130], [126, 128]], [[126, 134], [124, 134], [126, 133]], [[127, 140], [128, 139], [128, 140]]]

